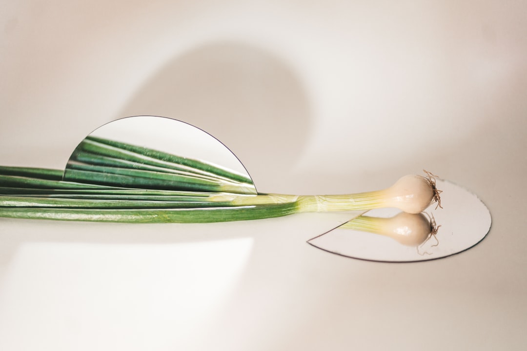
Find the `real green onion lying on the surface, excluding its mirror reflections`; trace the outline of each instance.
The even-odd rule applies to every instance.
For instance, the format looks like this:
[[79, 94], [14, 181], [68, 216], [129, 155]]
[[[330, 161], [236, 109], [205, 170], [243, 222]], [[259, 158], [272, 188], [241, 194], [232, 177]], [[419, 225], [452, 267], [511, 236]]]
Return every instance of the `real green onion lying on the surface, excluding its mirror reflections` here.
[[[415, 196], [412, 192], [413, 190], [411, 190], [412, 187], [408, 186], [408, 179], [413, 179], [411, 183], [415, 183], [414, 188], [422, 190], [419, 185], [423, 182], [422, 179], [426, 178], [417, 176], [403, 179], [403, 187], [401, 187], [401, 182], [398, 182], [396, 186], [378, 192], [329, 196], [243, 195], [225, 192], [152, 192], [152, 190], [126, 190], [111, 187], [100, 190], [64, 189], [58, 190], [58, 193], [54, 193], [54, 190], [51, 189], [48, 190], [47, 194], [37, 196], [30, 196], [32, 194], [17, 195], [16, 192], [13, 192], [14, 194], [0, 195], [0, 216], [108, 220], [111, 222], [144, 222], [150, 218], [152, 222], [164, 222], [164, 219], [156, 219], [158, 218], [157, 216], [163, 214], [163, 218], [167, 218], [166, 220], [172, 222], [203, 223], [269, 218], [300, 212], [367, 210], [387, 205], [402, 205], [399, 207], [415, 209], [415, 205], [409, 200], [414, 199]], [[428, 203], [422, 199], [419, 200], [426, 206], [430, 204], [434, 194], [432, 188], [430, 189], [431, 194], [426, 195], [428, 196]], [[35, 189], [31, 189], [30, 193], [34, 192]], [[137, 193], [137, 195], [134, 195], [134, 193]], [[151, 195], [158, 193], [164, 195]], [[397, 196], [393, 197], [394, 194]], [[122, 210], [109, 212], [108, 208], [129, 210], [128, 212], [123, 212]], [[165, 208], [167, 211], [159, 212], [159, 208]], [[182, 208], [188, 210], [171, 212], [171, 209]], [[206, 212], [201, 211], [205, 209], [207, 210]], [[97, 210], [99, 210], [99, 213], [97, 213]], [[265, 211], [268, 213], [264, 214]], [[140, 216], [142, 219], [132, 220], [132, 215]], [[206, 216], [209, 216], [209, 219], [205, 218]]]

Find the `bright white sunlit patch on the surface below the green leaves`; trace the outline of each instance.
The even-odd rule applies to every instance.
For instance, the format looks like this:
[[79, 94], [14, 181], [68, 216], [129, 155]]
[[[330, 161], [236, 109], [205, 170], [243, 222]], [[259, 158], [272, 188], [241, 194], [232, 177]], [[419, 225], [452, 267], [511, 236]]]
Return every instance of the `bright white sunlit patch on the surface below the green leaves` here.
[[24, 243], [3, 284], [0, 346], [185, 348], [228, 301], [251, 244]]

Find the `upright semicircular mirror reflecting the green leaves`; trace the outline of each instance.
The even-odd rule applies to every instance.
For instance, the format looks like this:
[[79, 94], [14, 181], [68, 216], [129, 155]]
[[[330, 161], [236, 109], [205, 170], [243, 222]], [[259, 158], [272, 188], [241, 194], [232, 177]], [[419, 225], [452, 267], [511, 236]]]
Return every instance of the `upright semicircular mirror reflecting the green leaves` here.
[[218, 139], [157, 116], [126, 117], [95, 129], [75, 148], [63, 179], [128, 188], [257, 193], [245, 167]]

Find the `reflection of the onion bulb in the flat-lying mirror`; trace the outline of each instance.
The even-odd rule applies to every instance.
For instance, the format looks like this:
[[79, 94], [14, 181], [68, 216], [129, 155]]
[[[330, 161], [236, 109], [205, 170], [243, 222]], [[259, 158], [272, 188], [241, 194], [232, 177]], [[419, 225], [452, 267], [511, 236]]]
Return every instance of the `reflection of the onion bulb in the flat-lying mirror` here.
[[431, 223], [422, 213], [405, 212], [391, 218], [358, 216], [340, 228], [384, 235], [406, 246], [419, 246], [437, 232], [433, 219]]

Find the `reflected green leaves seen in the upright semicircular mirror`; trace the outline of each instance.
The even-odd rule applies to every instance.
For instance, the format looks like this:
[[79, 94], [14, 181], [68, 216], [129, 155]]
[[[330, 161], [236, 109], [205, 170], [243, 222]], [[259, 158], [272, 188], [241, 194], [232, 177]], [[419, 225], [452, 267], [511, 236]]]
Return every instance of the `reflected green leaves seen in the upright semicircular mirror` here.
[[92, 136], [73, 152], [64, 180], [143, 189], [256, 194], [251, 178], [227, 168]]

